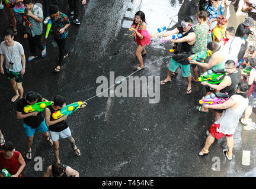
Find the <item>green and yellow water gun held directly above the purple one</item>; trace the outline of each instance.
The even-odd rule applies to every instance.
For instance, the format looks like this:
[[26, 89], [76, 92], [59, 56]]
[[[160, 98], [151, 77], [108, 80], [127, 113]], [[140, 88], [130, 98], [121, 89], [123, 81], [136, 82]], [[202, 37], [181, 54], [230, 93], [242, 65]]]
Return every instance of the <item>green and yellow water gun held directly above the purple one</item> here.
[[223, 69], [212, 69], [204, 72], [199, 77], [199, 82], [208, 82], [210, 84], [218, 84], [222, 82], [226, 76], [226, 71]]

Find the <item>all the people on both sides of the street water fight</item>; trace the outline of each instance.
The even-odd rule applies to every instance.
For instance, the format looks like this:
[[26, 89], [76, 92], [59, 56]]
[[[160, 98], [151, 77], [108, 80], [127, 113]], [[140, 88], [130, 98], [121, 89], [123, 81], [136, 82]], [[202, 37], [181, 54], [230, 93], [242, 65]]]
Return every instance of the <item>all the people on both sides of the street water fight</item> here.
[[[31, 0], [17, 0], [15, 2], [12, 5], [14, 9], [16, 5], [21, 7], [20, 5], [22, 4], [24, 6], [23, 16], [21, 16], [23, 19], [18, 21], [19, 17], [17, 15], [16, 17], [11, 17], [13, 30], [8, 29], [5, 32], [4, 41], [0, 44], [0, 68], [1, 73], [6, 74], [8, 80], [11, 81], [12, 89], [15, 91], [11, 102], [15, 102], [18, 99], [17, 119], [24, 120], [23, 127], [27, 136], [25, 158], [32, 158], [31, 146], [34, 133], [37, 131], [41, 133], [50, 146], [53, 146], [53, 154], [56, 160], [55, 164], [47, 168], [44, 177], [49, 177], [50, 175], [54, 177], [63, 175], [78, 177], [78, 172], [67, 165], [61, 164], [59, 158], [59, 138], [68, 139], [75, 154], [77, 156], [81, 155], [66, 122], [67, 116], [62, 116], [59, 119], [53, 119], [52, 117], [54, 112], [66, 106], [65, 99], [59, 95], [55, 96], [53, 103], [44, 109], [44, 116], [42, 112], [24, 112], [25, 106], [34, 105], [37, 102], [47, 102], [47, 99], [33, 91], [28, 92], [23, 97], [22, 79], [25, 73], [26, 59], [23, 46], [14, 41], [14, 35], [17, 33], [14, 25], [17, 19], [18, 22], [24, 25], [24, 34], [28, 38], [31, 56], [28, 57], [27, 61], [33, 61], [38, 56], [46, 56], [46, 46], [41, 42], [41, 35], [43, 34], [43, 22], [47, 24], [50, 19], [52, 21], [53, 36], [59, 46], [59, 59], [53, 71], [59, 73], [63, 59], [68, 56], [65, 45], [66, 38], [69, 35], [69, 18], [59, 11], [57, 1], [53, 1], [54, 5], [52, 6], [49, 6], [49, 0], [44, 1], [46, 7], [45, 17], [40, 6], [33, 4]], [[222, 1], [222, 4], [225, 3], [226, 1]], [[82, 4], [85, 4], [85, 1], [82, 1]], [[193, 91], [192, 82], [199, 82], [200, 70], [202, 73], [215, 69], [225, 71], [225, 77], [223, 77], [222, 82], [218, 84], [201, 82], [201, 84], [206, 86], [206, 95], [216, 94], [217, 92], [228, 93], [229, 99], [217, 105], [205, 104], [196, 106], [195, 109], [204, 113], [209, 113], [209, 109], [214, 109], [215, 118], [215, 122], [209, 129], [209, 135], [199, 155], [209, 154], [210, 145], [213, 144], [215, 139], [225, 136], [228, 149], [224, 149], [223, 153], [226, 158], [231, 160], [234, 143], [232, 135], [238, 126], [238, 122], [246, 126], [252, 113], [252, 108], [256, 107], [256, 89], [254, 88], [256, 84], [256, 51], [253, 45], [248, 44], [249, 35], [256, 34], [256, 30], [254, 28], [254, 19], [251, 17], [245, 18], [244, 22], [239, 24], [236, 29], [229, 27], [228, 19], [223, 17], [222, 4], [215, 0], [200, 1], [199, 7], [201, 10], [197, 13], [197, 21], [186, 17], [181, 21], [181, 26], [159, 35], [159, 37], [168, 37], [170, 35], [183, 34], [181, 38], [171, 40], [171, 43], [174, 44], [174, 54], [169, 62], [167, 76], [160, 84], [164, 86], [170, 83], [172, 78], [178, 74], [178, 69], [180, 68], [182, 76], [187, 79], [186, 94], [191, 94]], [[78, 1], [69, 1], [69, 6], [71, 7], [70, 17], [73, 17], [73, 22], [78, 24]], [[10, 12], [9, 14], [11, 15]], [[135, 71], [145, 70], [143, 56], [146, 56], [146, 46], [151, 44], [151, 35], [146, 30], [146, 27], [145, 14], [142, 11], [136, 12], [130, 28], [130, 31], [133, 31], [135, 35], [135, 42], [137, 43], [135, 56], [139, 61], [139, 67], [136, 67]], [[40, 55], [37, 54], [37, 48], [40, 50]], [[202, 51], [210, 51], [204, 60], [188, 60], [191, 55]], [[251, 68], [249, 74], [244, 74], [243, 69], [245, 67]], [[81, 107], [86, 105], [86, 103], [83, 103]], [[242, 118], [243, 113], [244, 118]], [[4, 151], [0, 152], [0, 169], [7, 169], [12, 177], [21, 177], [25, 161], [20, 152], [15, 151], [15, 147], [11, 142], [5, 142], [1, 131], [0, 143], [4, 147]], [[9, 164], [8, 161], [11, 161], [12, 164]], [[4, 177], [1, 172], [0, 177]]]

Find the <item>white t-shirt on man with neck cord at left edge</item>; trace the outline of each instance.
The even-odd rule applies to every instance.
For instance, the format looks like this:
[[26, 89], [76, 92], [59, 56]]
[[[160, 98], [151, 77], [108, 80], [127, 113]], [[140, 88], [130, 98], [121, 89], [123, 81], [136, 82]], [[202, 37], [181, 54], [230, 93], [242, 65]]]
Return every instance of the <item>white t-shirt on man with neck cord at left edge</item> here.
[[[12, 47], [8, 47], [5, 41], [2, 41], [0, 44], [0, 54], [4, 54], [5, 56], [5, 68], [9, 71], [19, 72], [22, 69], [21, 56], [24, 55], [23, 46], [14, 41], [14, 45]], [[10, 68], [9, 62], [12, 61], [13, 68]]]

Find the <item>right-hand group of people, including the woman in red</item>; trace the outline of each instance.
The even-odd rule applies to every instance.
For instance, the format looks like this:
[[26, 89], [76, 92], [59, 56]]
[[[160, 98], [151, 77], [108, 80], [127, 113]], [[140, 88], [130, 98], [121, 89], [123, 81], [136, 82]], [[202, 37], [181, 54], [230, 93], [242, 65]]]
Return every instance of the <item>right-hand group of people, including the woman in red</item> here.
[[[242, 0], [244, 1], [244, 0]], [[241, 122], [248, 125], [248, 118], [252, 113], [252, 107], [256, 107], [256, 51], [254, 45], [248, 44], [248, 37], [254, 39], [256, 34], [254, 19], [246, 17], [244, 22], [237, 28], [228, 26], [228, 19], [223, 17], [224, 5], [217, 0], [200, 1], [200, 11], [197, 13], [197, 22], [186, 17], [181, 21], [181, 26], [171, 31], [163, 32], [159, 37], [177, 36], [181, 38], [171, 40], [174, 44], [174, 54], [171, 57], [167, 69], [167, 76], [161, 81], [161, 86], [172, 81], [172, 77], [177, 75], [178, 68], [181, 75], [187, 79], [186, 94], [192, 92], [192, 82], [199, 82], [199, 68], [202, 73], [209, 70], [223, 70], [225, 76], [220, 83], [212, 84], [201, 82], [206, 87], [206, 95], [225, 93], [228, 100], [222, 100], [217, 105], [204, 104], [196, 106], [199, 112], [209, 113], [209, 109], [214, 109], [215, 123], [207, 131], [207, 139], [204, 147], [199, 152], [200, 156], [209, 154], [209, 147], [223, 136], [226, 137], [228, 149], [223, 149], [223, 153], [229, 160], [232, 159], [233, 133]], [[146, 46], [150, 44], [149, 33], [146, 31], [146, 21], [143, 12], [139, 11], [135, 15], [133, 25], [130, 30], [134, 31], [137, 49], [135, 55], [140, 66], [135, 71], [144, 70], [142, 56], [146, 54]], [[192, 54], [207, 51], [205, 60], [188, 60]], [[251, 72], [244, 73], [244, 69], [250, 68]], [[194, 76], [192, 77], [192, 72]], [[249, 98], [248, 98], [249, 97]], [[242, 118], [243, 113], [244, 118]]]

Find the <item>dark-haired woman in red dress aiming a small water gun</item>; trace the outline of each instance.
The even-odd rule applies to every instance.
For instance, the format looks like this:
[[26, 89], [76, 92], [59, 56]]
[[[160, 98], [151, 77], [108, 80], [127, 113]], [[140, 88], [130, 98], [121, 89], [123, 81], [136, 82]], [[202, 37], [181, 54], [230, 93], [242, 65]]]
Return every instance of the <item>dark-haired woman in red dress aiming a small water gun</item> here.
[[135, 19], [133, 20], [131, 31], [134, 31], [136, 37], [137, 48], [135, 51], [135, 56], [139, 60], [139, 67], [136, 67], [134, 71], [144, 70], [143, 58], [146, 55], [146, 46], [151, 44], [151, 35], [146, 30], [146, 20], [145, 14], [142, 11], [138, 11], [135, 14]]

